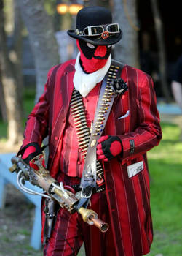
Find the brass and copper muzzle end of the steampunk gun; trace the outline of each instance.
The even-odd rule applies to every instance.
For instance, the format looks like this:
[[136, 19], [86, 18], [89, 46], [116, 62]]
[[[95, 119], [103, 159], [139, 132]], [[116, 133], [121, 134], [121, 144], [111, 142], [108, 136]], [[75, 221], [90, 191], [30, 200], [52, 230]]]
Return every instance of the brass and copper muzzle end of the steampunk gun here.
[[90, 225], [95, 225], [95, 227], [98, 227], [101, 232], [104, 233], [108, 230], [108, 223], [98, 219], [98, 214], [96, 214], [95, 211], [81, 207], [79, 208], [79, 214], [82, 215], [84, 222], [87, 222]]

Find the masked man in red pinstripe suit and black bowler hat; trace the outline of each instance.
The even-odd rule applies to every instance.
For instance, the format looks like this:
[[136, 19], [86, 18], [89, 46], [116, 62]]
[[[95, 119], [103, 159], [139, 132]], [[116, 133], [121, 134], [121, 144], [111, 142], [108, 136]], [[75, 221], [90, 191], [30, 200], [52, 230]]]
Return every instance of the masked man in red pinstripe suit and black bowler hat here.
[[[76, 60], [50, 69], [44, 93], [28, 116], [20, 154], [29, 162], [41, 152], [42, 140], [49, 135], [48, 170], [58, 181], [73, 186], [80, 183], [84, 157], [71, 115], [71, 95], [74, 89], [82, 95], [90, 127], [101, 83], [111, 65], [111, 45], [122, 38], [122, 31], [112, 22], [111, 12], [86, 7], [77, 15], [76, 29], [68, 34], [76, 39], [79, 54]], [[79, 214], [60, 208], [44, 255], [77, 255], [83, 241], [86, 255], [140, 256], [150, 250], [153, 230], [146, 151], [162, 138], [159, 113], [149, 75], [124, 65], [121, 78], [128, 90], [114, 100], [97, 146], [106, 189], [90, 199], [92, 209], [110, 228], [100, 233]], [[42, 211], [43, 226], [44, 219]]]

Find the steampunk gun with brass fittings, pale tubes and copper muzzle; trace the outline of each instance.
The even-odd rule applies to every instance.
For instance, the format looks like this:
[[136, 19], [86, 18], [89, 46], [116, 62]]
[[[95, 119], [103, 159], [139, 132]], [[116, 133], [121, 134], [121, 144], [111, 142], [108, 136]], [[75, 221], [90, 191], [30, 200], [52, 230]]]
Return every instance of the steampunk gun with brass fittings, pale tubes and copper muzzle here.
[[[71, 214], [76, 211], [82, 215], [84, 222], [95, 225], [101, 232], [108, 230], [108, 224], [98, 219], [98, 214], [92, 209], [76, 207], [79, 203], [80, 195], [74, 194], [63, 186], [63, 182], [58, 183], [50, 176], [49, 170], [44, 167], [44, 154], [39, 154], [31, 160], [31, 166], [27, 165], [21, 157], [12, 157], [12, 167], [9, 170], [17, 173], [17, 184], [24, 192], [31, 195], [41, 195], [57, 201], [62, 208], [66, 208]], [[43, 193], [36, 192], [25, 187], [25, 181], [44, 189]]]

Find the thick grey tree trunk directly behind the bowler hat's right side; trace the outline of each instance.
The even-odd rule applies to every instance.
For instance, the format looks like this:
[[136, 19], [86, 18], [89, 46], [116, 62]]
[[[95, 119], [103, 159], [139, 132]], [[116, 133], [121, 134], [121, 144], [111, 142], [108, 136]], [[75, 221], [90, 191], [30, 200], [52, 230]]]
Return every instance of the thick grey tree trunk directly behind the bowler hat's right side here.
[[113, 16], [123, 32], [122, 40], [114, 46], [114, 59], [139, 67], [136, 0], [114, 0]]

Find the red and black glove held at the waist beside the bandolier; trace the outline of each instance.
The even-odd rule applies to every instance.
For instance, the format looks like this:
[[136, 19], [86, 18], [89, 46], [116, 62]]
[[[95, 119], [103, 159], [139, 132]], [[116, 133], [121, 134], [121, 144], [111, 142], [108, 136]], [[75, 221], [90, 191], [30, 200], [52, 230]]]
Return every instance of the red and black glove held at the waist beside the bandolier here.
[[98, 140], [97, 155], [98, 160], [105, 162], [117, 157], [122, 153], [122, 140], [117, 136], [102, 136]]

